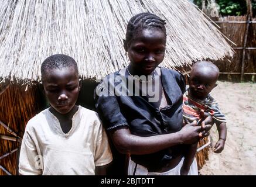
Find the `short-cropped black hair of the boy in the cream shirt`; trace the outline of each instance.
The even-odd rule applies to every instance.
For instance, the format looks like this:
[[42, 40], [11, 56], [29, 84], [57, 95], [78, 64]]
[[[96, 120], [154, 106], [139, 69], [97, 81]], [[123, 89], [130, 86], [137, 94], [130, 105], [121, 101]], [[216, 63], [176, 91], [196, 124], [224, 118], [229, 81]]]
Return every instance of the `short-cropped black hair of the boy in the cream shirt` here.
[[66, 67], [73, 67], [78, 77], [77, 63], [74, 58], [65, 54], [54, 54], [46, 58], [41, 65], [42, 81], [46, 78], [47, 71]]

